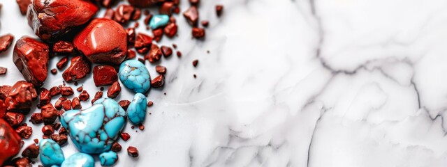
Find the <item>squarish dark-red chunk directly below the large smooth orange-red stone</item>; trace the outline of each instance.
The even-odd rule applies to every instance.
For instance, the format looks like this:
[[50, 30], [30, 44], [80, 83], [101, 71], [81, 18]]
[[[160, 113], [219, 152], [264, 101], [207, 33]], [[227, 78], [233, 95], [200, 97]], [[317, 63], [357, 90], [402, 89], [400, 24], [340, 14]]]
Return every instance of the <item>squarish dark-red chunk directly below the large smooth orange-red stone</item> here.
[[118, 81], [117, 70], [112, 65], [96, 65], [93, 68], [95, 86], [109, 86]]

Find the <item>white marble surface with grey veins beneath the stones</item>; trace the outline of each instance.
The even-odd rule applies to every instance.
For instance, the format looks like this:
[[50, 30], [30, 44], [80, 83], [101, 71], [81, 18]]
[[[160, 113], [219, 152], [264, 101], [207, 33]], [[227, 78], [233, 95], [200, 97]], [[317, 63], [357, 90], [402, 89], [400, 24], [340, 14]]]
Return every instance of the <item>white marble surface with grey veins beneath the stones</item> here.
[[[0, 34], [32, 35], [15, 2], [1, 3]], [[182, 11], [188, 6], [183, 0]], [[163, 59], [166, 86], [149, 94], [145, 130], [126, 127], [131, 139], [121, 142], [117, 166], [446, 166], [446, 7], [441, 0], [202, 0], [206, 40], [191, 40], [177, 17], [179, 38], [161, 44], [175, 42], [183, 56]], [[22, 79], [12, 49], [0, 63], [8, 67], [0, 84]], [[60, 74], [50, 74], [45, 88], [61, 84]], [[98, 90], [92, 79], [81, 84], [91, 96]], [[124, 90], [119, 99], [131, 96]], [[34, 131], [31, 139], [41, 136]], [[139, 148], [138, 159], [126, 155], [128, 145]], [[71, 141], [63, 149], [66, 157], [75, 152]]]

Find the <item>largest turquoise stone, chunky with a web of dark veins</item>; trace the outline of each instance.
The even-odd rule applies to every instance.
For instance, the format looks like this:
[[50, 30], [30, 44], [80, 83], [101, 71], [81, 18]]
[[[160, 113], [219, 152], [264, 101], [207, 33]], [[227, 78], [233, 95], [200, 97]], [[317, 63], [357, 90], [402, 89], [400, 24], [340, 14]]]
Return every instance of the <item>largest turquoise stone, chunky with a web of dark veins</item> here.
[[100, 154], [112, 148], [126, 122], [126, 111], [115, 100], [101, 98], [87, 109], [66, 111], [61, 125], [80, 152]]

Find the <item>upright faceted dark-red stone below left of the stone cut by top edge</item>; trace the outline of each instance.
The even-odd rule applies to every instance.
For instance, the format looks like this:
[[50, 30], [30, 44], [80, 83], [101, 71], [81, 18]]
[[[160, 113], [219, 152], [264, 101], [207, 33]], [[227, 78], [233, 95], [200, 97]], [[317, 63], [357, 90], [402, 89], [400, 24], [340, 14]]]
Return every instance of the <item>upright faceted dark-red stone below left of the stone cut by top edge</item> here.
[[13, 61], [26, 81], [41, 87], [48, 74], [48, 45], [24, 36], [15, 43]]

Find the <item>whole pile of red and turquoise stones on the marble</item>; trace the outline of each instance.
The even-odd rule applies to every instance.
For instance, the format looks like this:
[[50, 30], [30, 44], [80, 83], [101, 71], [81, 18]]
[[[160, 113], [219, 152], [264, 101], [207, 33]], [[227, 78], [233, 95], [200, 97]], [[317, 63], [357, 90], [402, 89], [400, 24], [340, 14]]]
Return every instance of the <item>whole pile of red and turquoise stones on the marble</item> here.
[[[147, 95], [150, 88], [162, 88], [166, 67], [156, 66], [159, 76], [151, 80], [145, 61], [155, 63], [161, 56], [171, 56], [173, 49], [159, 47], [153, 41], [159, 41], [163, 34], [168, 38], [177, 35], [177, 24], [173, 15], [179, 14], [179, 0], [128, 0], [130, 5], [121, 4], [113, 10], [111, 7], [119, 0], [17, 0], [22, 15], [27, 15], [28, 24], [37, 37], [24, 36], [17, 40], [13, 50], [13, 63], [23, 74], [25, 81], [17, 81], [13, 86], [0, 86], [0, 165], [31, 166], [32, 160], [40, 157], [43, 166], [94, 166], [97, 155], [103, 166], [112, 166], [118, 160], [116, 152], [122, 150], [117, 143], [119, 137], [124, 141], [130, 138], [122, 132], [126, 120], [139, 126], [146, 118]], [[193, 26], [193, 38], [204, 39], [205, 29], [198, 27], [198, 0], [190, 0], [190, 8], [183, 13]], [[103, 18], [94, 18], [100, 8], [108, 8]], [[152, 15], [142, 8], [159, 7], [159, 13]], [[1, 4], [0, 4], [1, 9]], [[223, 6], [216, 6], [221, 15]], [[136, 33], [138, 20], [145, 15], [144, 24], [152, 35]], [[128, 27], [129, 22], [135, 22]], [[209, 22], [202, 20], [207, 27]], [[0, 36], [0, 52], [8, 50], [13, 35]], [[174, 49], [176, 45], [173, 45]], [[136, 58], [136, 52], [144, 58]], [[181, 56], [177, 51], [177, 56]], [[49, 70], [48, 61], [54, 56], [64, 56], [57, 68]], [[61, 77], [65, 82], [74, 83], [85, 79], [93, 71], [96, 87], [109, 86], [107, 96], [103, 97], [103, 88], [95, 93], [91, 106], [82, 108], [80, 102], [89, 100], [89, 93], [82, 86], [76, 88], [78, 96], [70, 86], [61, 84], [49, 90], [42, 86], [47, 73], [57, 74], [68, 64]], [[98, 63], [93, 70], [91, 64]], [[196, 67], [198, 61], [193, 61]], [[6, 74], [0, 67], [0, 75]], [[117, 98], [121, 92], [118, 79], [135, 95], [132, 101]], [[59, 97], [51, 104], [53, 97]], [[32, 105], [38, 100], [34, 111]], [[22, 150], [22, 138], [30, 138], [33, 129], [24, 123], [25, 115], [31, 113], [31, 123], [43, 123], [43, 137], [24, 148], [22, 157], [15, 157]], [[59, 118], [59, 120], [58, 120]], [[132, 126], [133, 127], [133, 126]], [[55, 134], [55, 132], [58, 132]], [[61, 147], [66, 145], [68, 137], [80, 151], [65, 158]], [[131, 157], [138, 157], [138, 149], [127, 148]]]

